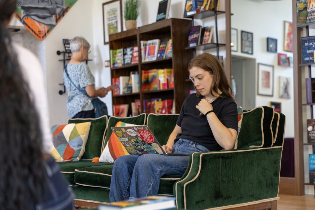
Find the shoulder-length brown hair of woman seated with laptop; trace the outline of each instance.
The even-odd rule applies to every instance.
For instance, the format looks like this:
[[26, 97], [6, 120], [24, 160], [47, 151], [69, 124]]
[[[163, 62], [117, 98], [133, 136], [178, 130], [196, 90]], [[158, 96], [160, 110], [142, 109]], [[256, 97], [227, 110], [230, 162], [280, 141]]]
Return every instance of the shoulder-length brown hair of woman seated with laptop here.
[[[222, 97], [222, 95], [225, 94], [227, 97], [230, 97], [234, 100], [232, 88], [226, 78], [223, 66], [214, 55], [203, 53], [195, 56], [188, 64], [188, 72], [190, 69], [192, 69], [192, 67], [198, 67], [210, 73], [213, 78], [213, 82], [210, 87], [210, 93], [212, 95], [219, 95], [219, 97]], [[196, 95], [200, 97], [200, 92], [195, 86], [194, 88], [196, 90]], [[221, 90], [224, 94], [220, 94], [218, 90]]]

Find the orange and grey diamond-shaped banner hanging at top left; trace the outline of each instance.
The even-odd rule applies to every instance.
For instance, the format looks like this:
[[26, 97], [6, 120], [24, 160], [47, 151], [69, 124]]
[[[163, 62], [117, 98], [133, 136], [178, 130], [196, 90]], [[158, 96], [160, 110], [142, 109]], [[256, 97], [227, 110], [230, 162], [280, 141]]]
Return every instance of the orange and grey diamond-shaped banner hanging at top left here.
[[39, 40], [44, 40], [77, 0], [18, 0], [16, 17]]

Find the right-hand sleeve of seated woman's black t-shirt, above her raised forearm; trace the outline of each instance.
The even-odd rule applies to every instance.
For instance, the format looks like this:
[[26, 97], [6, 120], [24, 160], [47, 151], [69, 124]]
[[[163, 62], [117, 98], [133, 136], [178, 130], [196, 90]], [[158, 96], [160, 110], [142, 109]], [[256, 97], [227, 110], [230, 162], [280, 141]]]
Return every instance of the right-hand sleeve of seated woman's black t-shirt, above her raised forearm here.
[[224, 106], [220, 121], [226, 128], [233, 128], [236, 131], [238, 130], [237, 105], [234, 101], [231, 101]]

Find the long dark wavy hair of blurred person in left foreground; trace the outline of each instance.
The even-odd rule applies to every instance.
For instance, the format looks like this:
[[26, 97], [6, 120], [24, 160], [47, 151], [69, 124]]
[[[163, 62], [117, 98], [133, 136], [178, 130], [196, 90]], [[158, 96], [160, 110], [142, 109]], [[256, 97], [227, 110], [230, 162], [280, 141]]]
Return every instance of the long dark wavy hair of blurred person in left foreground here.
[[46, 169], [39, 118], [4, 22], [16, 0], [0, 0], [0, 209], [35, 209]]

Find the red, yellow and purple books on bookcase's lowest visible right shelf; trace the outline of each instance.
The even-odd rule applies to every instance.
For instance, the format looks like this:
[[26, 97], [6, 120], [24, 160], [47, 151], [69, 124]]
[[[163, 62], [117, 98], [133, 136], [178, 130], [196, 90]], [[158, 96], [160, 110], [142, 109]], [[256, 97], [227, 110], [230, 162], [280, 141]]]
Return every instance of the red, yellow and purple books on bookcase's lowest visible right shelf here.
[[143, 99], [143, 112], [155, 114], [175, 114], [175, 100], [161, 98]]

